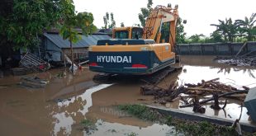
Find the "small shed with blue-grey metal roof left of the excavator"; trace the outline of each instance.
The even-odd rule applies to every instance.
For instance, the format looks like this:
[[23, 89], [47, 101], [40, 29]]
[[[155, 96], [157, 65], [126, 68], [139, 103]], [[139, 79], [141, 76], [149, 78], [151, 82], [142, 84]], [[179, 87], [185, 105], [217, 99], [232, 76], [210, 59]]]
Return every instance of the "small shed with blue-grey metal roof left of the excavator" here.
[[[88, 59], [88, 47], [97, 45], [97, 40], [111, 39], [110, 36], [101, 33], [81, 35], [82, 39], [73, 43], [73, 59]], [[69, 40], [64, 40], [59, 33], [44, 33], [40, 52], [48, 61], [64, 61], [64, 54], [71, 58]]]

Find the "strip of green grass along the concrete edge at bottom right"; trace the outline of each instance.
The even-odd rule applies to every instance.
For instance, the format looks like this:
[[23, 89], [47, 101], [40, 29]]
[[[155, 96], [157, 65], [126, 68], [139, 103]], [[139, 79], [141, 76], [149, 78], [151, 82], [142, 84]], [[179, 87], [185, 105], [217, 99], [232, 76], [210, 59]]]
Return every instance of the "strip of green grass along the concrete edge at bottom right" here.
[[[167, 124], [174, 126], [176, 133], [184, 135], [198, 135], [198, 136], [210, 136], [210, 135], [225, 135], [235, 136], [237, 133], [235, 129], [230, 126], [222, 126], [217, 124], [211, 124], [206, 121], [188, 121], [182, 119], [173, 118], [171, 115], [162, 115], [156, 110], [152, 110], [147, 106], [142, 105], [121, 105], [118, 106], [120, 110], [124, 110], [130, 115], [135, 115], [141, 120], [147, 120], [157, 123]], [[247, 134], [246, 134], [247, 135]], [[253, 135], [253, 134], [249, 134]]]

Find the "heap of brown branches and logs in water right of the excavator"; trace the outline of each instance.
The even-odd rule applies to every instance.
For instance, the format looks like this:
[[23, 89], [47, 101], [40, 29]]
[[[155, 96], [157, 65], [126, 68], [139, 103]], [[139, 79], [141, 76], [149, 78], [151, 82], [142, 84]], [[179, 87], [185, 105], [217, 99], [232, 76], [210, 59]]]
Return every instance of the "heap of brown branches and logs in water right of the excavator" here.
[[[147, 85], [140, 87], [140, 94], [154, 96], [156, 102], [160, 104], [181, 100], [185, 105], [180, 106], [180, 108], [193, 106], [193, 111], [200, 113], [205, 112], [205, 108], [202, 107], [202, 104], [208, 101], [214, 101], [214, 105], [211, 106], [212, 109], [224, 109], [227, 101], [225, 100], [224, 106], [220, 107], [220, 97], [229, 97], [244, 101], [249, 87], [243, 86], [243, 89], [239, 90], [236, 87], [219, 82], [219, 79], [220, 78], [215, 78], [209, 81], [201, 80], [201, 82], [197, 84], [185, 83], [184, 86], [178, 86], [177, 82], [173, 82], [168, 88], [159, 87], [156, 84], [149, 84], [149, 82], [147, 82]], [[206, 98], [206, 96], [212, 97]], [[185, 99], [185, 97], [187, 99]], [[188, 102], [188, 99], [192, 101]], [[200, 101], [201, 99], [203, 99], [203, 101]]]

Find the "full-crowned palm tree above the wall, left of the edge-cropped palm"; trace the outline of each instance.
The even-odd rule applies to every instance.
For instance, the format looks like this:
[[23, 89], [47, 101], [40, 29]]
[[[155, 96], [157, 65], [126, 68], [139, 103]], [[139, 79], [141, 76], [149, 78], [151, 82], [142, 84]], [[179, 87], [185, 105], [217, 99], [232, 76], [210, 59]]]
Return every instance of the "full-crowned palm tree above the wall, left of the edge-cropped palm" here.
[[237, 33], [237, 26], [233, 23], [232, 19], [225, 19], [225, 21], [219, 20], [220, 24], [211, 24], [211, 26], [216, 26], [215, 32], [220, 33], [224, 37], [225, 41], [234, 41]]

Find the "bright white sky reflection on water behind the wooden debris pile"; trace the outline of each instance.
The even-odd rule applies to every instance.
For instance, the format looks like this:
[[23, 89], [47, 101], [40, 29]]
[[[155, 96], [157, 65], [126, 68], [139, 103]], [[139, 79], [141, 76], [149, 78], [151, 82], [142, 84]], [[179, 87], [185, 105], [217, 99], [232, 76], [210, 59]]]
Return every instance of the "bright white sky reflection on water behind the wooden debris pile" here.
[[[189, 66], [183, 65], [183, 69], [186, 69], [186, 73], [181, 73], [179, 83], [197, 83], [201, 82], [202, 79], [205, 81], [211, 80], [216, 77], [220, 77], [220, 82], [230, 84], [232, 86], [242, 87], [256, 87], [256, 81], [254, 69], [239, 69], [228, 68], [228, 72], [222, 68], [213, 68], [206, 66]], [[248, 74], [246, 74], [248, 73]]]

